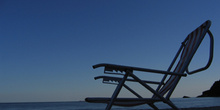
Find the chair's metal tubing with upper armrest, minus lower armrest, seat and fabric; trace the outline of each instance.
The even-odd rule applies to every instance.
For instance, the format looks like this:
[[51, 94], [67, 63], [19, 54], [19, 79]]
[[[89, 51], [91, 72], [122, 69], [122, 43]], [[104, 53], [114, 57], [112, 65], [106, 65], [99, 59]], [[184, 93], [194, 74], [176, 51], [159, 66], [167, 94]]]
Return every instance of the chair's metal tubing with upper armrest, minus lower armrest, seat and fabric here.
[[[196, 69], [194, 71], [191, 71], [189, 72], [188, 71], [188, 64], [190, 63], [194, 53], [196, 52], [197, 48], [195, 48], [193, 50], [194, 53], [191, 54], [191, 56], [189, 56], [189, 59], [186, 61], [187, 64], [183, 66], [183, 68], [180, 70], [181, 73], [188, 73], [188, 74], [194, 74], [196, 72], [199, 72], [199, 71], [203, 71], [205, 69], [207, 69], [212, 60], [213, 60], [213, 47], [214, 47], [214, 38], [213, 38], [213, 35], [211, 33], [211, 31], [208, 29], [209, 27], [206, 27], [206, 32], [204, 32], [204, 37], [205, 37], [205, 34], [208, 33], [209, 34], [209, 37], [210, 37], [210, 56], [209, 56], [209, 61], [208, 63], [206, 64], [205, 67], [202, 67], [202, 68], [199, 68], [199, 69]], [[203, 38], [204, 38], [203, 37]], [[202, 38], [202, 39], [203, 39]], [[202, 41], [202, 39], [200, 39]], [[170, 100], [169, 100], [169, 97], [171, 96], [172, 92], [174, 91], [175, 89], [175, 85], [171, 87], [171, 89], [169, 90], [169, 92], [167, 93], [166, 97], [163, 97], [162, 95], [160, 95], [158, 93], [158, 91], [160, 90], [160, 88], [162, 87], [162, 84], [164, 83], [166, 77], [168, 75], [175, 75], [174, 72], [170, 72], [173, 65], [175, 64], [177, 58], [179, 57], [180, 53], [182, 52], [182, 49], [185, 47], [185, 43], [187, 42], [188, 40], [188, 37], [184, 40], [184, 42], [182, 42], [182, 45], [181, 47], [179, 48], [176, 56], [174, 57], [171, 65], [169, 66], [168, 70], [165, 72], [165, 71], [160, 71], [160, 70], [152, 70], [152, 69], [144, 69], [144, 68], [136, 68], [136, 67], [127, 67], [127, 66], [120, 66], [120, 65], [111, 65], [111, 64], [99, 64], [99, 65], [95, 65], [93, 66], [93, 68], [97, 68], [97, 67], [101, 67], [101, 66], [104, 66], [104, 67], [108, 67], [108, 69], [111, 70], [116, 70], [116, 71], [125, 71], [125, 74], [124, 74], [124, 77], [121, 79], [121, 81], [119, 81], [119, 84], [117, 85], [114, 93], [112, 94], [112, 97], [106, 107], [105, 110], [110, 110], [112, 108], [112, 105], [114, 104], [114, 101], [116, 100], [118, 94], [120, 93], [120, 90], [122, 89], [122, 87], [125, 87], [127, 90], [129, 90], [131, 93], [133, 93], [135, 96], [137, 96], [138, 98], [142, 99], [143, 97], [140, 96], [138, 93], [136, 93], [134, 90], [132, 90], [130, 87], [128, 87], [127, 85], [125, 85], [125, 81], [127, 80], [128, 77], [132, 77], [134, 80], [136, 80], [137, 82], [139, 82], [143, 87], [145, 87], [146, 89], [148, 89], [150, 92], [152, 92], [156, 97], [158, 97], [161, 101], [163, 101], [164, 103], [167, 103], [170, 107], [172, 107], [173, 109], [175, 110], [179, 110], [179, 108], [177, 108]], [[200, 42], [201, 43], [201, 42]], [[200, 43], [196, 46], [198, 47], [200, 45]], [[112, 66], [112, 67], [111, 67]], [[161, 80], [161, 83], [159, 84], [158, 88], [156, 90], [154, 90], [153, 88], [151, 88], [148, 84], [146, 84], [146, 82], [143, 82], [140, 78], [138, 78], [137, 76], [135, 76], [133, 74], [133, 71], [136, 70], [136, 71], [145, 71], [145, 72], [152, 72], [152, 73], [161, 73], [161, 74], [165, 74], [164, 77], [162, 78]], [[114, 74], [114, 73], [113, 73]], [[121, 74], [120, 74], [121, 75]], [[180, 78], [182, 76], [186, 76], [186, 75], [180, 75], [180, 74], [176, 74], [178, 76], [178, 79], [175, 80], [175, 84], [177, 84], [180, 80]], [[154, 109], [158, 109], [154, 104], [154, 102], [152, 103], [148, 103], [148, 105], [150, 105], [152, 108]]]

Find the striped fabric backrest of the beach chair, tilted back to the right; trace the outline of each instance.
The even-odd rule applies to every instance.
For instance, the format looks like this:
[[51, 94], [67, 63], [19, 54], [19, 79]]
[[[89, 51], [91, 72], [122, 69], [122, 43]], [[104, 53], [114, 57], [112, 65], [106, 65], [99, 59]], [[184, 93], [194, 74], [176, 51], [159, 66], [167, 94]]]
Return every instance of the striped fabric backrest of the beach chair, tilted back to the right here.
[[[206, 33], [209, 31], [210, 26], [211, 21], [208, 20], [186, 37], [186, 39], [182, 42], [182, 46], [180, 47], [180, 50], [177, 52], [176, 58], [174, 58], [174, 61], [172, 62], [171, 67], [168, 69], [168, 71], [171, 71], [174, 62], [176, 61], [179, 55], [179, 61], [173, 72], [176, 72], [178, 74], [184, 74], [184, 72], [187, 71], [190, 61], [192, 60], [196, 50], [201, 44]], [[181, 76], [171, 75], [169, 79], [166, 80], [164, 86], [158, 88], [158, 92], [162, 96], [167, 94], [166, 98], [169, 98], [173, 90], [175, 89], [177, 83], [179, 82], [180, 78]], [[156, 96], [154, 95], [153, 98], [156, 98]]]

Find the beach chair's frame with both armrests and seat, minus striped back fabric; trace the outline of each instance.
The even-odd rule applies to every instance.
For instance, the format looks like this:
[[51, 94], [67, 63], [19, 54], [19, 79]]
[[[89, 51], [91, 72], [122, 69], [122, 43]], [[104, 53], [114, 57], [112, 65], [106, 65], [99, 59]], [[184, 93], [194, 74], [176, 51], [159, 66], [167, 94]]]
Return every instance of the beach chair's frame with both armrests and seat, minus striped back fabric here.
[[[189, 66], [189, 64], [192, 60], [192, 57], [194, 56], [195, 52], [197, 51], [200, 43], [202, 42], [201, 41], [198, 44], [197, 48], [193, 49], [193, 53], [190, 54], [191, 55], [190, 58], [188, 59], [188, 61], [186, 61], [187, 64], [185, 64], [184, 65], [185, 67], [183, 67], [185, 69], [183, 69], [183, 71], [181, 73], [171, 72], [171, 69], [175, 65], [177, 59], [180, 57], [181, 52], [184, 50], [186, 42], [189, 39], [188, 36], [187, 36], [187, 38], [182, 42], [182, 45], [180, 46], [179, 50], [177, 51], [176, 56], [174, 57], [173, 61], [171, 62], [170, 66], [169, 66], [169, 68], [167, 69], [167, 71], [147, 69], [147, 68], [139, 68], [139, 67], [131, 67], [131, 66], [122, 66], [122, 65], [115, 65], [115, 64], [107, 64], [107, 63], [101, 63], [101, 64], [94, 65], [93, 66], [94, 69], [99, 68], [99, 67], [104, 67], [104, 73], [106, 73], [106, 74], [115, 74], [115, 75], [123, 75], [123, 78], [110, 77], [110, 76], [95, 77], [95, 79], [103, 79], [103, 83], [107, 83], [107, 84], [115, 84], [115, 83], [109, 83], [110, 81], [115, 81], [115, 82], [117, 82], [117, 87], [116, 87], [114, 93], [112, 94], [111, 98], [86, 98], [85, 100], [87, 102], [94, 102], [94, 103], [108, 103], [108, 105], [106, 106], [106, 110], [110, 110], [112, 108], [112, 105], [135, 106], [135, 105], [140, 105], [140, 104], [148, 104], [153, 109], [157, 110], [158, 108], [154, 105], [154, 103], [158, 102], [158, 101], [163, 101], [164, 103], [167, 103], [173, 109], [179, 110], [179, 108], [176, 107], [170, 101], [170, 96], [173, 93], [173, 91], [174, 91], [176, 85], [178, 84], [180, 78], [181, 77], [186, 77], [187, 74], [191, 75], [191, 74], [198, 73], [200, 71], [206, 70], [207, 68], [209, 68], [209, 66], [211, 65], [212, 60], [213, 60], [214, 38], [213, 38], [213, 35], [212, 35], [211, 31], [209, 30], [209, 27], [211, 25], [211, 21], [208, 20], [206, 22], [209, 22], [209, 24], [208, 24], [209, 26], [206, 27], [207, 29], [203, 33], [204, 34], [203, 36], [205, 37], [206, 33], [208, 33], [208, 35], [209, 35], [209, 38], [210, 38], [210, 52], [209, 52], [208, 63], [204, 67], [193, 70], [193, 71], [188, 70], [188, 66]], [[161, 82], [145, 81], [145, 80], [141, 80], [136, 75], [134, 75], [133, 74], [134, 71], [164, 74], [164, 77], [162, 78]], [[166, 81], [168, 75], [172, 75], [172, 76], [175, 75], [175, 76], [178, 76], [180, 78], [179, 78], [179, 80], [175, 80], [175, 82], [173, 82], [174, 85], [166, 93], [166, 97], [164, 97], [158, 91], [165, 84], [164, 82]], [[132, 79], [129, 79], [128, 77], [131, 77]], [[125, 84], [125, 81], [133, 81], [133, 82], [140, 83], [143, 87], [145, 87], [146, 89], [148, 89], [150, 92], [152, 92], [154, 94], [153, 97], [152, 98], [143, 98], [138, 93], [136, 93], [134, 90], [132, 90], [130, 87], [128, 87]], [[155, 90], [155, 89], [151, 88], [147, 83], [148, 84], [158, 84], [158, 87]], [[122, 87], [125, 87], [127, 90], [129, 90], [131, 93], [133, 93], [138, 98], [117, 98], [117, 96], [118, 96], [120, 90], [122, 89]], [[128, 103], [129, 103], [129, 105], [128, 105]]]

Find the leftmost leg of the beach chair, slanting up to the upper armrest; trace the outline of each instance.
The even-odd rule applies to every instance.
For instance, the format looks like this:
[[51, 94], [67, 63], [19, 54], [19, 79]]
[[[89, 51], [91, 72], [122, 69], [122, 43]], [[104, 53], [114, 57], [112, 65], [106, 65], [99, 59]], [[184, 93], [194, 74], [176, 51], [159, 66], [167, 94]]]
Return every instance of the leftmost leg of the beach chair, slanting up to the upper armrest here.
[[126, 73], [123, 77], [123, 79], [119, 82], [118, 86], [116, 87], [115, 89], [115, 92], [113, 93], [112, 97], [111, 97], [111, 100], [110, 102], [108, 103], [107, 107], [105, 108], [105, 110], [110, 110], [112, 108], [112, 105], [115, 101], [115, 99], [117, 98], [122, 86], [124, 85], [128, 75], [129, 75], [130, 72]]

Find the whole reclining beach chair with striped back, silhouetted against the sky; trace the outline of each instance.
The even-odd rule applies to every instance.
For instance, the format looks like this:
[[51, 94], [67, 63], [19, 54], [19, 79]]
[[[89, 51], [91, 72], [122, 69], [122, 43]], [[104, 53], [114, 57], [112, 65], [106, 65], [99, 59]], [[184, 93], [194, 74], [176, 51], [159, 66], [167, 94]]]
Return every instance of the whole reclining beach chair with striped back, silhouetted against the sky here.
[[[103, 83], [109, 84], [112, 84], [114, 82], [114, 84], [117, 84], [117, 87], [111, 98], [89, 97], [86, 98], [85, 101], [92, 103], [107, 103], [106, 110], [110, 110], [112, 108], [112, 105], [129, 107], [142, 104], [148, 104], [150, 107], [157, 110], [158, 108], [154, 105], [154, 103], [162, 101], [168, 104], [170, 107], [172, 107], [172, 109], [178, 110], [179, 108], [170, 101], [170, 96], [173, 93], [181, 77], [186, 77], [187, 74], [191, 75], [206, 70], [211, 65], [213, 59], [214, 39], [212, 33], [209, 30], [210, 26], [211, 21], [207, 20], [205, 23], [203, 23], [201, 26], [199, 26], [186, 37], [186, 39], [182, 42], [182, 45], [177, 51], [177, 54], [171, 62], [167, 71], [106, 63], [94, 65], [94, 69], [104, 67], [104, 73], [111, 74], [111, 76], [98, 76], [95, 77], [95, 79], [103, 79]], [[197, 51], [204, 37], [207, 36], [206, 33], [208, 33], [210, 38], [210, 51], [208, 63], [204, 67], [195, 69], [193, 71], [189, 71], [188, 66], [190, 64], [190, 61], [192, 60], [195, 52]], [[164, 76], [162, 77], [160, 82], [142, 80], [134, 73], [140, 71], [147, 73], [162, 74]], [[113, 77], [112, 75], [123, 76]], [[131, 89], [127, 84], [125, 84], [126, 81], [139, 83], [144, 88], [152, 92], [153, 96], [151, 98], [142, 97], [135, 90]], [[151, 86], [149, 86], [149, 84], [157, 84], [158, 86], [157, 88], [152, 88]], [[133, 93], [135, 96], [137, 96], [137, 98], [118, 98], [117, 96], [122, 87], [126, 88], [128, 91]]]

